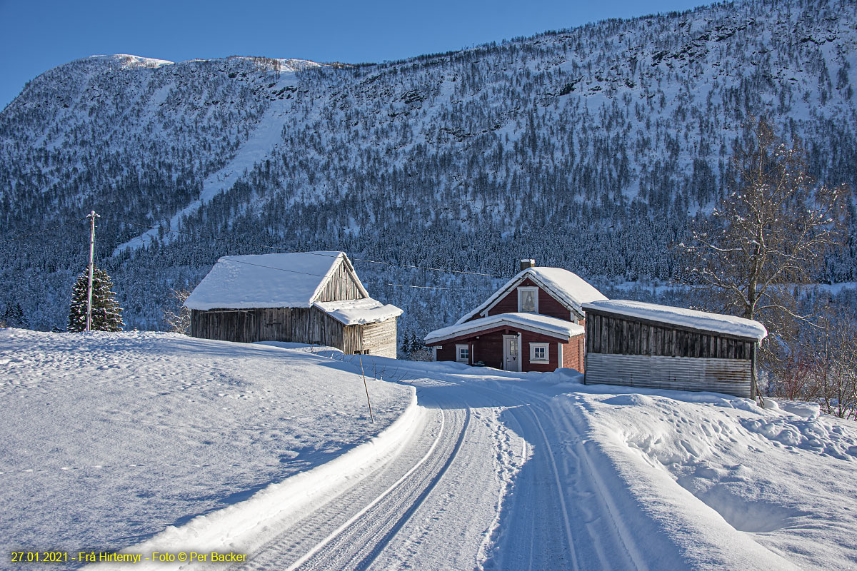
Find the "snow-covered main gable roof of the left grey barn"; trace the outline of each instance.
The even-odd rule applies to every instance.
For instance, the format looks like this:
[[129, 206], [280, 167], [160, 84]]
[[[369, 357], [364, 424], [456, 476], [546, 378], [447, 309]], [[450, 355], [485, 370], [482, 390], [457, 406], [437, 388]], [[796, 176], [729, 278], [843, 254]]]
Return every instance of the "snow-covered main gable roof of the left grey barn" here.
[[[190, 309], [309, 307], [337, 267], [343, 252], [267, 253], [224, 256], [184, 302]], [[357, 276], [355, 276], [357, 279]], [[363, 294], [366, 288], [357, 279]]]

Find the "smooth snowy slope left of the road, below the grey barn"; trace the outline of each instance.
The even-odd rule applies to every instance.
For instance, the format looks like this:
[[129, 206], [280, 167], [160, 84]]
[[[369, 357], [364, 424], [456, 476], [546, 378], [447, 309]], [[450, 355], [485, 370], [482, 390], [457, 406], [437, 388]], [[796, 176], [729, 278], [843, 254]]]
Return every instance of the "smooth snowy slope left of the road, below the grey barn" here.
[[118, 549], [366, 443], [412, 390], [174, 334], [0, 330], [0, 552]]

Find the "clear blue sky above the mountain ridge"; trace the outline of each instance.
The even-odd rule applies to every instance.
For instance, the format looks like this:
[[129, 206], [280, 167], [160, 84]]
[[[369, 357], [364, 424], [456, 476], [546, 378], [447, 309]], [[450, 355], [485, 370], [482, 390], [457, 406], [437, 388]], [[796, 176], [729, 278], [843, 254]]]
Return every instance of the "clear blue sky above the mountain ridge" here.
[[27, 80], [96, 54], [173, 62], [232, 55], [382, 62], [699, 3], [0, 0], [0, 109]]

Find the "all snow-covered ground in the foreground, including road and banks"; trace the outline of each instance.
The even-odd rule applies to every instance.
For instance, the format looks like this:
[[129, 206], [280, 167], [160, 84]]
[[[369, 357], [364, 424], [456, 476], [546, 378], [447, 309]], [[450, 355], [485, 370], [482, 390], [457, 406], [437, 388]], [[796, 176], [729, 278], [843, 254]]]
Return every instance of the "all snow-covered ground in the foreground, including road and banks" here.
[[0, 331], [3, 550], [857, 567], [857, 425], [818, 407], [364, 357], [371, 425], [355, 358], [279, 345]]

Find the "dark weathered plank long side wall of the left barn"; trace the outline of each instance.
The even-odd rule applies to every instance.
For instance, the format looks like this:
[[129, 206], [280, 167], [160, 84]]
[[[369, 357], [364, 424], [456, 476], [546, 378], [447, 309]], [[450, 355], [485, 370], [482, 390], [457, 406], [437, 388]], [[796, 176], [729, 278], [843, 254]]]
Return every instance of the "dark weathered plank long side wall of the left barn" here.
[[348, 353], [343, 324], [316, 307], [193, 310], [190, 331], [202, 339], [291, 341], [327, 345]]

